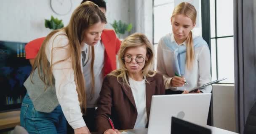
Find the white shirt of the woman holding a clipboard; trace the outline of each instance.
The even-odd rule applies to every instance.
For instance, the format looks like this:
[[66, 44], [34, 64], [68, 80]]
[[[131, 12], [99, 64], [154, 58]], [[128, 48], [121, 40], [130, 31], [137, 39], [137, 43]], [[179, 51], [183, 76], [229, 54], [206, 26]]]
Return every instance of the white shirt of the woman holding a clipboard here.
[[[171, 43], [177, 44], [173, 33], [169, 34], [168, 36], [171, 38]], [[193, 35], [193, 39], [195, 37], [196, 36]], [[184, 42], [180, 45], [186, 45], [186, 43]], [[188, 70], [186, 67], [183, 76], [185, 80], [187, 80], [188, 85], [185, 84], [183, 87], [171, 87], [171, 79], [175, 76], [173, 66], [173, 63], [175, 63], [175, 54], [168, 48], [168, 46], [166, 46], [163, 38], [160, 39], [157, 47], [157, 71], [163, 75], [165, 89], [180, 91], [184, 91], [185, 89], [191, 90], [192, 88], [211, 82], [211, 55], [208, 46], [203, 45], [196, 47], [194, 51], [195, 60], [193, 62], [193, 66], [190, 70]], [[203, 93], [210, 93], [211, 90], [211, 85], [201, 89]]]

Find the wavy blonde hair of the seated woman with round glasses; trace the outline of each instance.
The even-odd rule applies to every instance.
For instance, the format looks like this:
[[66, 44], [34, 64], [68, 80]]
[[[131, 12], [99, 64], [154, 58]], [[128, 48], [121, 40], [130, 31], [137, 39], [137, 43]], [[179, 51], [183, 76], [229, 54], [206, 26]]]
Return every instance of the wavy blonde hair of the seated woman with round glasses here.
[[[114, 75], [117, 77], [117, 81], [122, 79], [125, 84], [129, 85], [128, 82], [128, 70], [125, 66], [125, 61], [123, 59], [126, 49], [131, 47], [138, 47], [138, 46], [146, 46], [147, 49], [147, 60], [145, 60], [145, 65], [142, 68], [142, 76], [147, 81], [146, 77], [153, 77], [156, 72], [152, 70], [153, 62], [154, 62], [154, 51], [153, 46], [147, 39], [143, 33], [133, 33], [130, 36], [126, 37], [120, 46], [118, 52], [118, 60], [120, 63], [120, 69], [112, 71], [109, 75]], [[148, 82], [148, 81], [147, 81]]]

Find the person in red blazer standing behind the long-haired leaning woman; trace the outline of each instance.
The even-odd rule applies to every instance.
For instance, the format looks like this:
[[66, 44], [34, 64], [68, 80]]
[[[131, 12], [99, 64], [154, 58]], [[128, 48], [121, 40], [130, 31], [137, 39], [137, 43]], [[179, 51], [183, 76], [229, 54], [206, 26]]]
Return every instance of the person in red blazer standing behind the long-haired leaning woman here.
[[[103, 13], [106, 13], [107, 8], [104, 0], [83, 0], [82, 3], [85, 1], [95, 3]], [[92, 32], [89, 36], [93, 34], [95, 33]], [[83, 75], [86, 81], [85, 89], [87, 94], [86, 116], [83, 116], [83, 118], [91, 132], [95, 131], [96, 101], [99, 98], [103, 78], [111, 71], [116, 70], [116, 55], [121, 45], [121, 41], [117, 38], [115, 31], [112, 29], [104, 29], [100, 38], [100, 41], [95, 39], [93, 42], [95, 43], [94, 46], [85, 45], [86, 49], [83, 52], [82, 59]], [[45, 37], [35, 39], [25, 46], [26, 59], [29, 59], [29, 62], [32, 65], [44, 39]], [[69, 126], [68, 132], [72, 133]]]

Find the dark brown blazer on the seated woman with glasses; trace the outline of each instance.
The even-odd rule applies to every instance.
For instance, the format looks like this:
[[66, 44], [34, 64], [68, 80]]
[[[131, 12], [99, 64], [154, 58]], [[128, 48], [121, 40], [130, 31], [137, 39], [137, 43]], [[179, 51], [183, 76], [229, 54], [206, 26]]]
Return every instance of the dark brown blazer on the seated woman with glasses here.
[[[152, 95], [165, 94], [163, 76], [156, 74], [147, 77], [146, 82], [146, 111], [149, 119]], [[120, 83], [119, 83], [120, 82]], [[114, 122], [115, 129], [133, 129], [137, 119], [137, 109], [131, 88], [123, 80], [112, 75], [104, 78], [96, 110], [96, 129], [99, 134], [111, 129], [108, 116]]]

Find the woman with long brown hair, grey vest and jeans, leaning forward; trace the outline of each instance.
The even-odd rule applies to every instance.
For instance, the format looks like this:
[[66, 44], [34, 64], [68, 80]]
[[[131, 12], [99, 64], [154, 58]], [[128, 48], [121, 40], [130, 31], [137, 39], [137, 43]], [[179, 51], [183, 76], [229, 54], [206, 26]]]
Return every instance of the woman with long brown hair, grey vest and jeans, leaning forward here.
[[100, 8], [85, 2], [66, 27], [45, 38], [24, 83], [27, 94], [20, 117], [29, 133], [67, 134], [67, 119], [75, 134], [90, 134], [81, 112], [86, 109], [82, 51], [84, 44], [93, 46], [101, 39], [106, 23]]

